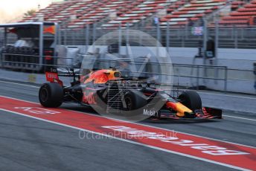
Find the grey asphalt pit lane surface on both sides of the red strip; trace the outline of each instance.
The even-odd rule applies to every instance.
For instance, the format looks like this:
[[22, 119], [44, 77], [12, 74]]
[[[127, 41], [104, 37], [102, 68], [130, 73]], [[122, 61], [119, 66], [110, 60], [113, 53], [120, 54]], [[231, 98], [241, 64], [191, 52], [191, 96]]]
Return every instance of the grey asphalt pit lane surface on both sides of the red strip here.
[[[0, 81], [0, 95], [38, 103], [36, 86]], [[65, 109], [92, 112], [65, 104]], [[240, 117], [240, 118], [237, 118]], [[144, 125], [256, 146], [256, 114], [224, 112], [211, 122], [164, 121]], [[1, 170], [234, 170], [112, 138], [0, 111]]]

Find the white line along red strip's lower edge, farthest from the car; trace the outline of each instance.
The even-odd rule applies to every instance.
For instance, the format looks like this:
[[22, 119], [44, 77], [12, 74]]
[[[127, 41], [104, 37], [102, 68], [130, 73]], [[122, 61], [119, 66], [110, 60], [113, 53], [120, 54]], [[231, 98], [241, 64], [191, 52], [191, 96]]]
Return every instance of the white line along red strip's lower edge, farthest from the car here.
[[208, 159], [205, 159], [205, 158], [199, 158], [199, 157], [196, 157], [196, 156], [193, 156], [193, 155], [186, 155], [186, 154], [181, 153], [181, 152], [174, 152], [174, 151], [167, 150], [167, 149], [162, 149], [162, 148], [159, 148], [159, 147], [156, 147], [156, 146], [150, 146], [150, 145], [147, 145], [147, 144], [144, 144], [144, 143], [129, 141], [127, 139], [117, 138], [115, 136], [105, 135], [105, 134], [102, 134], [102, 133], [99, 133], [99, 132], [93, 132], [93, 131], [90, 131], [88, 129], [80, 129], [80, 128], [75, 127], [75, 126], [69, 126], [69, 125], [66, 125], [66, 124], [63, 124], [63, 123], [57, 123], [57, 122], [54, 122], [54, 121], [51, 121], [51, 120], [45, 120], [45, 119], [41, 119], [41, 118], [38, 118], [38, 117], [28, 116], [26, 114], [22, 114], [22, 113], [19, 113], [19, 112], [12, 112], [12, 111], [5, 110], [5, 109], [0, 109], [0, 110], [2, 110], [4, 112], [10, 112], [10, 113], [13, 113], [13, 114], [19, 114], [19, 115], [22, 115], [22, 116], [25, 116], [25, 117], [31, 117], [33, 119], [42, 120], [42, 121], [45, 121], [45, 122], [48, 122], [48, 123], [54, 123], [54, 124], [57, 124], [57, 125], [60, 125], [60, 126], [65, 126], [65, 127], [71, 128], [71, 129], [78, 129], [78, 130], [81, 130], [81, 131], [90, 132], [92, 134], [105, 136], [107, 138], [112, 138], [112, 139], [119, 140], [119, 141], [124, 141], [124, 142], [127, 142], [127, 143], [133, 143], [133, 144], [136, 144], [136, 145], [145, 146], [145, 147], [148, 147], [148, 148], [151, 148], [151, 149], [158, 149], [158, 150], [161, 150], [163, 152], [169, 152], [169, 153], [173, 153], [173, 154], [176, 154], [176, 155], [182, 155], [182, 156], [185, 156], [185, 157], [188, 157], [188, 158], [197, 159], [197, 160], [200, 160], [200, 161], [206, 161], [206, 162], [209, 162], [209, 163], [212, 163], [212, 164], [218, 164], [218, 165], [221, 165], [223, 167], [229, 167], [229, 168], [236, 169], [236, 170], [246, 170], [242, 167], [235, 167], [235, 166], [232, 166], [232, 165], [229, 165], [229, 164], [223, 164], [223, 163], [220, 163], [220, 162], [217, 162], [217, 161], [211, 161], [211, 160], [208, 160]]

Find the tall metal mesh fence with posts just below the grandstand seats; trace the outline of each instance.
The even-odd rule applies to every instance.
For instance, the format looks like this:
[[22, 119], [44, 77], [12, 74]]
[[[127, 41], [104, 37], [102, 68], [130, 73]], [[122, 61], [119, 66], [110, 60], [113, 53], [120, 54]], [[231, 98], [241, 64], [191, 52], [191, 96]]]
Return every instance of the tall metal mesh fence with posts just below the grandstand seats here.
[[[106, 33], [109, 33], [115, 29], [103, 29], [95, 28], [93, 25], [84, 28], [83, 30], [60, 30], [59, 45], [92, 45], [95, 40], [99, 39]], [[126, 28], [121, 28], [126, 30]], [[195, 29], [193, 27], [183, 28], [129, 28], [132, 30], [141, 30], [144, 33], [148, 33], [150, 36], [158, 39], [161, 45], [164, 47], [180, 47], [180, 48], [198, 48], [199, 45], [206, 42], [209, 37], [217, 40], [217, 48], [256, 48], [256, 27], [247, 28], [202, 28], [202, 33], [195, 35], [193, 33]], [[204, 33], [207, 34], [204, 36]], [[202, 34], [202, 35], [200, 35]], [[147, 45], [147, 39], [143, 37], [141, 39], [142, 44]], [[203, 45], [202, 45], [203, 46]]]

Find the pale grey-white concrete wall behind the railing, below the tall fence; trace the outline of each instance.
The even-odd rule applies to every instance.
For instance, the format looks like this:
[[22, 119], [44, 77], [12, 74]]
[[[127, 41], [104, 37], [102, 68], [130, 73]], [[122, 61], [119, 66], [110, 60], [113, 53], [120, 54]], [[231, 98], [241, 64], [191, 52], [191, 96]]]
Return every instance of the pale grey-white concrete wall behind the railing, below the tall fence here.
[[[85, 53], [89, 51], [94, 53], [97, 49], [100, 54], [106, 53], [106, 46], [77, 46], [80, 48], [80, 53]], [[132, 56], [147, 56], [143, 47], [130, 47], [131, 52], [128, 54]], [[153, 51], [154, 54], [159, 54], [159, 57], [167, 57], [167, 51], [169, 52], [169, 57], [171, 61], [179, 65], [206, 65], [206, 66], [220, 66], [226, 67], [227, 71], [225, 72], [223, 68], [212, 69], [205, 68], [199, 71], [199, 76], [201, 78], [191, 78], [193, 74], [197, 71], [196, 67], [182, 67], [175, 71], [176, 77], [174, 77], [174, 82], [179, 80], [180, 83], [189, 83], [189, 86], [196, 86], [197, 83], [199, 86], [206, 86], [217, 91], [225, 91], [225, 82], [226, 91], [237, 92], [237, 93], [246, 93], [246, 94], [256, 94], [256, 76], [254, 74], [254, 63], [256, 60], [256, 50], [255, 49], [229, 49], [229, 48], [218, 48], [217, 57], [214, 59], [203, 59], [195, 58], [198, 54], [198, 48], [156, 48], [156, 47], [146, 47], [150, 51]], [[121, 55], [127, 55], [127, 47], [121, 47]], [[217, 78], [215, 79], [205, 79], [203, 77]], [[220, 80], [218, 80], [220, 79]]]

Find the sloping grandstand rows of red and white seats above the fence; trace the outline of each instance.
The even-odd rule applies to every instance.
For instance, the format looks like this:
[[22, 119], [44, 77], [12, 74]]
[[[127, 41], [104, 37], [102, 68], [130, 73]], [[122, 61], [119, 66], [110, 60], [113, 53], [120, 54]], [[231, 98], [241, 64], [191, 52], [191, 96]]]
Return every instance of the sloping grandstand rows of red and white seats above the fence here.
[[256, 25], [256, 0], [68, 0], [52, 3], [21, 22], [59, 22], [72, 30], [94, 23], [97, 28], [133, 27], [141, 22], [148, 27], [155, 22], [161, 28], [184, 27], [202, 25], [203, 17], [223, 13], [222, 9], [220, 26]]

